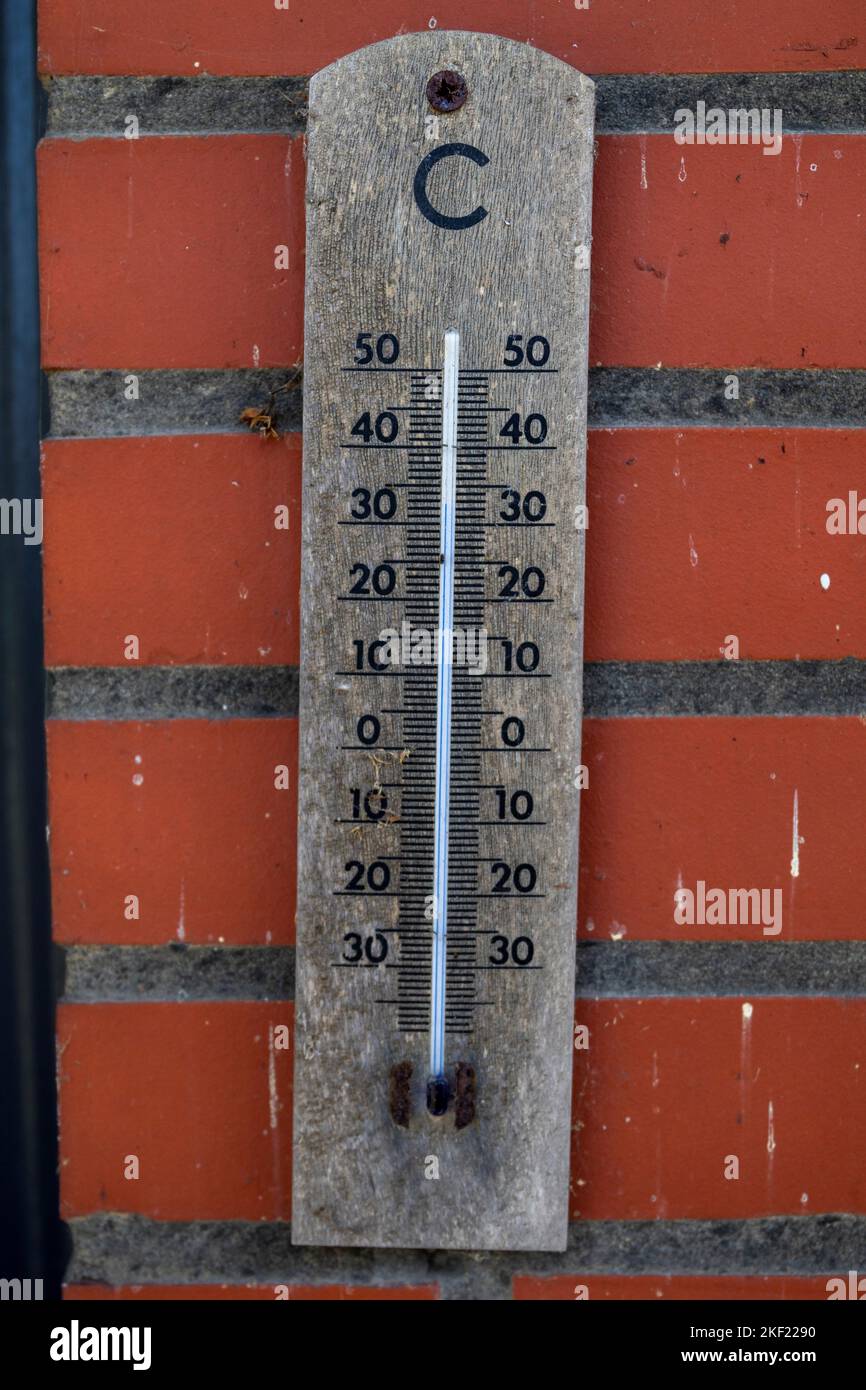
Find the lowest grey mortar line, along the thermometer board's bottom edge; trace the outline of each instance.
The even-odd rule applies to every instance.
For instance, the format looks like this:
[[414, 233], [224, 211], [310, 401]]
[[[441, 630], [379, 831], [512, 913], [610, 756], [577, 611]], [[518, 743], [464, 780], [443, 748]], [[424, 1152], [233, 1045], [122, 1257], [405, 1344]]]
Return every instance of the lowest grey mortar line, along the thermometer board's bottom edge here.
[[513, 1275], [841, 1275], [862, 1268], [866, 1218], [573, 1222], [564, 1254], [292, 1245], [288, 1222], [68, 1222], [68, 1283], [439, 1283], [446, 1298], [510, 1297]]

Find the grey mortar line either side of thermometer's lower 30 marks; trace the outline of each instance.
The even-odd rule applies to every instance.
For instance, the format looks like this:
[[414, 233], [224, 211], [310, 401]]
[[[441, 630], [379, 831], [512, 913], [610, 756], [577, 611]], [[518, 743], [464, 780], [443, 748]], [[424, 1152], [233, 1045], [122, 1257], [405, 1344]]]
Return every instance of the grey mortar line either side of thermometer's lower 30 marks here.
[[[758, 930], [758, 929], [756, 929]], [[288, 1001], [293, 947], [56, 947], [65, 1004]], [[580, 941], [575, 998], [866, 998], [866, 941]]]

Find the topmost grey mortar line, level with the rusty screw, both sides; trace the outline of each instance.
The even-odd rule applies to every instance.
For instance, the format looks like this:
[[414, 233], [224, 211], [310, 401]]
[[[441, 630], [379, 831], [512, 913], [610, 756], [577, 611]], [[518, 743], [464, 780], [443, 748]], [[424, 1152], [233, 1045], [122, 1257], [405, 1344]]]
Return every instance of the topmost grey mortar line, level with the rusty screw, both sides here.
[[[596, 132], [670, 133], [678, 108], [698, 100], [723, 110], [783, 111], [791, 132], [866, 129], [866, 74], [687, 72], [589, 74], [596, 85]], [[140, 135], [296, 136], [306, 129], [306, 76], [61, 76], [43, 78], [49, 136], [125, 138], [135, 115]]]

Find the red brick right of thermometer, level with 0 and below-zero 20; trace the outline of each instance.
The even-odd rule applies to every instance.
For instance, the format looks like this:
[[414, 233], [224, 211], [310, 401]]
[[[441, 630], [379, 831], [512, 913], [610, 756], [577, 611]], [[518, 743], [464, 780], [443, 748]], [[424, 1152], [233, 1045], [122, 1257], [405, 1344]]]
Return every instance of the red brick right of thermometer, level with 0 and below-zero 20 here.
[[[587, 720], [582, 758], [582, 938], [744, 938], [767, 949], [773, 940], [863, 938], [862, 720]], [[674, 892], [699, 878], [708, 888], [780, 888], [781, 933], [677, 926]]]

